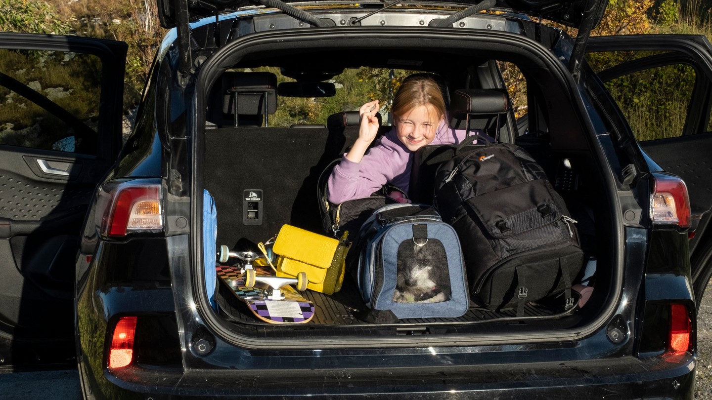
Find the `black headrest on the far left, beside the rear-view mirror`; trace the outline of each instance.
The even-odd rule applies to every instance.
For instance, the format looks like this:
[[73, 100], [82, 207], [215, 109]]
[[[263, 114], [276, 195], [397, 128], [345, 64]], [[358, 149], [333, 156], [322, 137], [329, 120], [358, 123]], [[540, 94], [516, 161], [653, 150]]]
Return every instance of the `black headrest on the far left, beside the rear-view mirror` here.
[[277, 111], [277, 75], [229, 71], [223, 74], [223, 79], [225, 114], [234, 114], [236, 108], [239, 115], [274, 114]]

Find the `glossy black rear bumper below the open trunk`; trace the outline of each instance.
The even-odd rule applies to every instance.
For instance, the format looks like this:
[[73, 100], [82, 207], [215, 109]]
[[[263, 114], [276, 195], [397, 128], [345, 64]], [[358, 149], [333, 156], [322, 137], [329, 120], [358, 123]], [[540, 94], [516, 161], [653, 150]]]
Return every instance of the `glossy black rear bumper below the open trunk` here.
[[[279, 364], [278, 360], [275, 362]], [[345, 360], [345, 365], [349, 364]], [[282, 367], [288, 367], [283, 365]], [[190, 370], [130, 367], [106, 377], [118, 391], [155, 399], [224, 396], [329, 399], [692, 399], [691, 354], [577, 362], [340, 370]]]

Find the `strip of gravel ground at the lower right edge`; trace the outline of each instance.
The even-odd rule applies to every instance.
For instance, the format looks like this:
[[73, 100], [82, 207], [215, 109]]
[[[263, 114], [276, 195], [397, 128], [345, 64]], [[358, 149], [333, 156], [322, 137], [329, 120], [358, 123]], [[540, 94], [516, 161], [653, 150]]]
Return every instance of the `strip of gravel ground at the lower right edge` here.
[[712, 399], [712, 280], [697, 315], [697, 384], [695, 399]]

